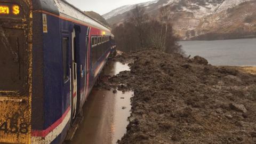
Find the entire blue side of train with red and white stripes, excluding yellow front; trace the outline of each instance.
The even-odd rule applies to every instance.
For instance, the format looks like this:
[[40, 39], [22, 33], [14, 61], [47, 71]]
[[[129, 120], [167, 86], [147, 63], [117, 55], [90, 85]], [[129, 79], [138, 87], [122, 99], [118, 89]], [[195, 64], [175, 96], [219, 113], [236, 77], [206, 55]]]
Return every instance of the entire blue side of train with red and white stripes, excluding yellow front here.
[[[61, 143], [65, 140], [70, 125], [75, 121], [71, 114], [72, 32], [75, 29], [76, 115], [82, 110], [111, 50], [110, 41], [99, 44], [100, 49], [104, 51], [97, 61], [92, 63], [91, 36], [111, 34], [57, 12], [34, 10], [34, 15], [33, 77], [35, 79], [33, 79], [31, 143]], [[65, 46], [67, 46], [66, 69], [63, 66]]]

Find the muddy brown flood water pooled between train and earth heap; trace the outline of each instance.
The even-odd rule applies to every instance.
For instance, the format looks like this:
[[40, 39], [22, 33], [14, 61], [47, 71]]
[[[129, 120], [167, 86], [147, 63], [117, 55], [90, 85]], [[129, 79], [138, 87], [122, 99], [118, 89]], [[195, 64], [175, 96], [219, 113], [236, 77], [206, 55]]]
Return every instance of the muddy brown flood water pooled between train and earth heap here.
[[[104, 75], [116, 75], [130, 70], [119, 62], [109, 62]], [[116, 143], [126, 132], [127, 117], [131, 112], [133, 92], [99, 90], [94, 88], [83, 108], [83, 122], [79, 125], [72, 141], [67, 144]]]

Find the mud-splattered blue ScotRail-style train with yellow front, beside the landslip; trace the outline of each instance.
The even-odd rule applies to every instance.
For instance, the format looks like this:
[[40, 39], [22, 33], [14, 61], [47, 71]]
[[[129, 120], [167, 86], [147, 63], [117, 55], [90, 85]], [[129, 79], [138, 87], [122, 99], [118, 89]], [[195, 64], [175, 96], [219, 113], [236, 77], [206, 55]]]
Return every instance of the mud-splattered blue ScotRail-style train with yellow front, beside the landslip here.
[[0, 0], [0, 143], [65, 141], [115, 47], [65, 0]]

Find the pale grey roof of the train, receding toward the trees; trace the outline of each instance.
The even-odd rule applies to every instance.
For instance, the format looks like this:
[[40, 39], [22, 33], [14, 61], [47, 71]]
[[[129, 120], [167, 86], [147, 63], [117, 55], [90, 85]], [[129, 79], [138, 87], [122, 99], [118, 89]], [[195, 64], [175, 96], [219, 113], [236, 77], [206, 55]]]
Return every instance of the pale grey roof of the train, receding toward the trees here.
[[85, 23], [85, 25], [95, 27], [110, 32], [111, 29], [97, 20], [89, 17], [83, 11], [65, 0], [34, 0], [34, 9], [47, 11], [62, 17], [75, 19]]

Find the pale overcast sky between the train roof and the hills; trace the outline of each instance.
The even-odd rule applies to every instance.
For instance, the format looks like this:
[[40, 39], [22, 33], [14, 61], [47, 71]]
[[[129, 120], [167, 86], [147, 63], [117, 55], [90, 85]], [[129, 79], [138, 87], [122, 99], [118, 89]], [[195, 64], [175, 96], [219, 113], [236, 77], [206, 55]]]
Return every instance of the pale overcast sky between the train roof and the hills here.
[[[148, 2], [150, 0], [66, 0], [83, 11], [94, 11], [105, 14], [117, 7]], [[152, 1], [152, 0], [151, 0]]]

